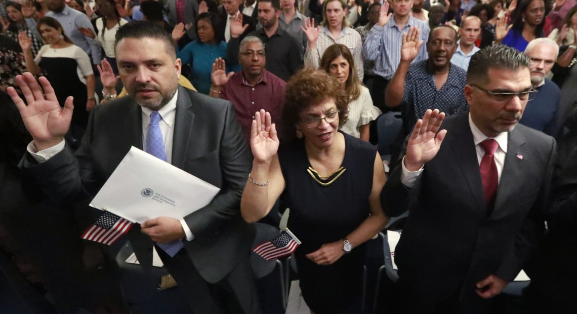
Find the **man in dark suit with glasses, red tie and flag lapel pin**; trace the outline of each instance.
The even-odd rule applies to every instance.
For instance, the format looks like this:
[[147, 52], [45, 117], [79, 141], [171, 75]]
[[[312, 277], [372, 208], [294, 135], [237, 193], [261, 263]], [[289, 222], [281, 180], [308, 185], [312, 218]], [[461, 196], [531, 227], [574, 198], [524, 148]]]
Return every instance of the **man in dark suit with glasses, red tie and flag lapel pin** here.
[[532, 91], [529, 59], [491, 46], [471, 58], [470, 112], [415, 125], [381, 194], [388, 215], [410, 210], [395, 252], [405, 312], [501, 312], [492, 298], [542, 235], [556, 159], [552, 137], [518, 124]]

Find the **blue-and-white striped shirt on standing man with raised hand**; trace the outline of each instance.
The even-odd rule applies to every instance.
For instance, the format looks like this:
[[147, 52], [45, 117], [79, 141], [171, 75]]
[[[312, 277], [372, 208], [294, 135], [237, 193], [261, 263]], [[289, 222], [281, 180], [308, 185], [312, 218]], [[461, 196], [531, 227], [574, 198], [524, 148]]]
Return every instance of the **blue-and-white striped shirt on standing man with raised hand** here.
[[419, 50], [419, 54], [413, 60], [413, 63], [428, 59], [425, 43], [429, 38], [429, 24], [411, 16], [409, 21], [407, 21], [407, 25], [404, 25], [403, 29], [399, 29], [395, 23], [395, 16], [393, 16], [384, 27], [380, 27], [377, 24], [374, 25], [365, 40], [363, 53], [365, 59], [374, 61], [375, 74], [387, 80], [393, 77], [400, 62], [403, 32], [408, 32], [411, 26], [418, 27], [421, 30], [421, 39], [423, 40], [421, 50]]

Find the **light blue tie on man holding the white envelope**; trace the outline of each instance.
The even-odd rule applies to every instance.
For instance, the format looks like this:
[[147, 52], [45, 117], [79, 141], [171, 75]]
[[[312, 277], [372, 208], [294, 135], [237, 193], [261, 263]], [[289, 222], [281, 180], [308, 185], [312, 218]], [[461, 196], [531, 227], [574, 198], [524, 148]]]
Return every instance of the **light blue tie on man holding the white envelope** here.
[[[160, 126], [158, 126], [160, 119], [162, 119], [162, 117], [160, 117], [158, 111], [152, 111], [146, 136], [146, 152], [166, 162], [164, 141], [162, 139], [162, 132], [160, 132]], [[170, 257], [176, 255], [184, 246], [182, 240], [176, 240], [170, 243], [157, 243], [156, 245], [163, 249]]]

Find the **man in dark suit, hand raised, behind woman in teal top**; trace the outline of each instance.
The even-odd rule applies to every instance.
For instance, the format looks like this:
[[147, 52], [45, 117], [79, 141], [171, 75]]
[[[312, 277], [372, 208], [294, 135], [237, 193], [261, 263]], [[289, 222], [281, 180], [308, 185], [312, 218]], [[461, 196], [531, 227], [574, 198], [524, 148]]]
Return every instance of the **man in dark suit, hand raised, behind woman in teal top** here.
[[[256, 29], [254, 18], [238, 10], [241, 0], [223, 0], [220, 8], [220, 20], [224, 23], [224, 40], [228, 43], [231, 32], [241, 33], [240, 40]], [[258, 14], [258, 11], [257, 11]]]

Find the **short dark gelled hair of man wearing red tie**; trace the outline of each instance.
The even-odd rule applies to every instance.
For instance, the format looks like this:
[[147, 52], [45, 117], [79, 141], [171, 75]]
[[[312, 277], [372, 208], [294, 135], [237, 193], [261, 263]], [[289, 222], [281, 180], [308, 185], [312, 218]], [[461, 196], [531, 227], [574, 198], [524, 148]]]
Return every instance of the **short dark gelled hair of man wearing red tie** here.
[[518, 70], [529, 68], [529, 57], [515, 48], [503, 44], [488, 46], [471, 57], [467, 69], [467, 84], [486, 84], [489, 69]]

